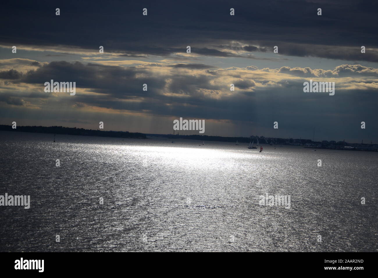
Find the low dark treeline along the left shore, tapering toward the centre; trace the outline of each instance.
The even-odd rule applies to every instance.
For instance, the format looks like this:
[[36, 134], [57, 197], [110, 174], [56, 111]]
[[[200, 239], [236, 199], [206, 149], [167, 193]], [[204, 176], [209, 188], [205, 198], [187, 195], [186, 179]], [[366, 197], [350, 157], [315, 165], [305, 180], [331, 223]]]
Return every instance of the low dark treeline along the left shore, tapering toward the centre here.
[[64, 126], [48, 126], [48, 127], [46, 127], [46, 126], [17, 126], [17, 128], [12, 129], [12, 126], [0, 124], [0, 130], [34, 132], [34, 133], [53, 133], [53, 134], [68, 134], [68, 135], [146, 139], [146, 134], [139, 133], [139, 132], [102, 131], [102, 130], [84, 129], [84, 128], [76, 128], [76, 127], [64, 127]]

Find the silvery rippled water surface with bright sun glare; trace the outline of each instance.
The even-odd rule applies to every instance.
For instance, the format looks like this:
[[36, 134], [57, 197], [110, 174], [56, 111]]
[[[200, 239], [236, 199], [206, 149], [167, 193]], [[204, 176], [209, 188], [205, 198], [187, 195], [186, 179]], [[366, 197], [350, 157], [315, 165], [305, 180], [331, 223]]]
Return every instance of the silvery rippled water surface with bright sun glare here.
[[0, 195], [31, 198], [0, 207], [0, 251], [377, 251], [378, 153], [56, 140], [0, 132]]

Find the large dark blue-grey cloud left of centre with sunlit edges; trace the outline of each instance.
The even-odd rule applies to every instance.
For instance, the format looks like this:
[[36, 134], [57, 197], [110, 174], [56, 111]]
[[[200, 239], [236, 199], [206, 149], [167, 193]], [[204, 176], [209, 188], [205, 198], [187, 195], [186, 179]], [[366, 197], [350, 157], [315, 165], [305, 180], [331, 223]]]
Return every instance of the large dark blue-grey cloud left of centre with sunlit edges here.
[[[136, 75], [140, 76], [136, 77]], [[29, 70], [15, 82], [40, 84], [44, 88], [44, 83], [50, 82], [51, 79], [54, 82], [76, 82], [76, 88], [90, 88], [93, 92], [116, 98], [157, 95], [166, 83], [158, 76], [150, 76], [143, 67], [124, 68], [65, 61], [54, 61], [36, 70]], [[147, 91], [142, 90], [143, 84], [148, 84]]]

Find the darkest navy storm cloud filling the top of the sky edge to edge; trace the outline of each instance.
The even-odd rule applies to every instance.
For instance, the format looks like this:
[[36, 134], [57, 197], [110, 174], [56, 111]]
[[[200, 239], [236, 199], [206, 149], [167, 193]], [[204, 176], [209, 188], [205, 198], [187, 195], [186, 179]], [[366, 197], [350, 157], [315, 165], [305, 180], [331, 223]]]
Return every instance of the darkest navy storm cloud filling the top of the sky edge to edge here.
[[[60, 16], [55, 15], [58, 4]], [[105, 51], [129, 56], [185, 53], [191, 45], [201, 55], [230, 57], [232, 54], [210, 45], [237, 40], [248, 44], [245, 51], [269, 50], [277, 45], [279, 53], [293, 56], [377, 61], [376, 52], [361, 54], [358, 49], [361, 45], [377, 47], [377, 5], [375, 1], [342, 0], [8, 1], [2, 4], [0, 24], [7, 28], [0, 34], [0, 43], [46, 48], [71, 45], [93, 49], [94, 53], [104, 45]], [[229, 15], [231, 6], [235, 16]], [[142, 15], [144, 7], [148, 16]], [[316, 14], [319, 7], [322, 16]], [[250, 42], [259, 42], [259, 50]]]

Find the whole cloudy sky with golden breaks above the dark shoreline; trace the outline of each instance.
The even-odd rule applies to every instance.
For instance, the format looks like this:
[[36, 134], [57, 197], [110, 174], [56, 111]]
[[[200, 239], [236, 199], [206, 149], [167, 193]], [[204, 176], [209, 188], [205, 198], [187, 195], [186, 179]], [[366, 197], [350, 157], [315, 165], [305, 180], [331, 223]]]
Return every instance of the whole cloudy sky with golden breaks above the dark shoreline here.
[[[205, 120], [203, 135], [312, 139], [315, 128], [315, 140], [378, 143], [377, 11], [348, 0], [8, 1], [0, 124], [169, 134], [182, 117]], [[51, 79], [76, 82], [76, 94], [45, 92]], [[304, 92], [310, 79], [335, 82], [335, 95]]]

